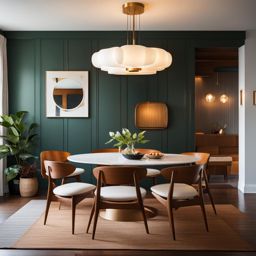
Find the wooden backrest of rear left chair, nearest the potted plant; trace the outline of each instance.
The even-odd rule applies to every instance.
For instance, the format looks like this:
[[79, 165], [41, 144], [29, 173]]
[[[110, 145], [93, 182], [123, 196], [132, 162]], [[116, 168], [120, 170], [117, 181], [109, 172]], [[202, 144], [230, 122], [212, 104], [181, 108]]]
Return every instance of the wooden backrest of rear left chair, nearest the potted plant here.
[[60, 150], [42, 151], [40, 154], [40, 162], [41, 162], [41, 175], [43, 176], [43, 178], [47, 179], [46, 169], [44, 165], [45, 160], [66, 162], [68, 156], [70, 156], [70, 153], [66, 151], [60, 151]]

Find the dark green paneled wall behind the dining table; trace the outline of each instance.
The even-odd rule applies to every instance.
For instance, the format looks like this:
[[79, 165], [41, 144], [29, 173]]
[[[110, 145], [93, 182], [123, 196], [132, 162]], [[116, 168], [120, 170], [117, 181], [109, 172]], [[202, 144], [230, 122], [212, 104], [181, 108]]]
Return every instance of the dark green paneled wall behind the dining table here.
[[[109, 131], [135, 130], [141, 101], [166, 102], [169, 127], [149, 131], [147, 147], [182, 152], [194, 147], [194, 49], [243, 44], [244, 32], [142, 32], [141, 44], [162, 47], [173, 64], [153, 76], [114, 76], [92, 67], [94, 51], [122, 45], [122, 32], [5, 32], [8, 39], [10, 112], [28, 110], [40, 125], [40, 148], [90, 152], [106, 147]], [[89, 118], [45, 116], [45, 72], [89, 71]]]

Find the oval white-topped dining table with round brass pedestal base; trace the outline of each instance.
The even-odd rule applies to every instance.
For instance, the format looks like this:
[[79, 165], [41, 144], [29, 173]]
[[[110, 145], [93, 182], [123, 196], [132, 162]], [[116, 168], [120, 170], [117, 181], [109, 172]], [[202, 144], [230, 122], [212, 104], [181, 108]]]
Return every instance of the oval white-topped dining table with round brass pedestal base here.
[[[113, 166], [177, 166], [193, 164], [199, 160], [198, 157], [182, 154], [164, 154], [160, 159], [149, 159], [143, 157], [141, 160], [126, 159], [121, 153], [87, 153], [70, 155], [70, 162], [93, 165], [113, 165]], [[148, 218], [156, 216], [157, 210], [150, 206], [145, 206]], [[127, 209], [106, 209], [100, 213], [104, 219], [114, 221], [138, 221], [142, 220], [141, 212]]]

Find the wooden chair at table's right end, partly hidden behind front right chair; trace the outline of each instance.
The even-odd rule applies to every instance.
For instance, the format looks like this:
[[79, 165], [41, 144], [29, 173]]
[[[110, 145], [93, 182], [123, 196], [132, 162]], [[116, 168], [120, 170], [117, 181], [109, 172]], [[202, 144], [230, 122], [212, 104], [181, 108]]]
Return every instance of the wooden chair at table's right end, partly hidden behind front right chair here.
[[196, 162], [196, 164], [201, 165], [203, 168], [203, 181], [202, 181], [203, 192], [205, 194], [208, 194], [213, 211], [215, 214], [217, 214], [217, 210], [215, 208], [214, 200], [212, 197], [211, 190], [209, 188], [209, 182], [208, 182], [208, 177], [207, 177], [207, 169], [208, 169], [210, 154], [203, 153], [203, 152], [184, 152], [182, 154], [189, 155], [189, 156], [195, 156], [195, 157], [199, 158], [199, 160]]

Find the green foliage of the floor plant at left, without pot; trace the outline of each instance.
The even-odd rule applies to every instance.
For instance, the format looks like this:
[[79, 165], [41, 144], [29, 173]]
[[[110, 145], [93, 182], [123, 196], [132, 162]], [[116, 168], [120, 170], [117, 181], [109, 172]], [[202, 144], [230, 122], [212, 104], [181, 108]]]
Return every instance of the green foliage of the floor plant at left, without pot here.
[[[16, 164], [5, 169], [7, 181], [16, 178], [27, 160], [35, 159], [31, 154], [35, 137], [36, 123], [27, 125], [24, 118], [28, 112], [19, 111], [16, 114], [1, 115], [0, 125], [5, 128], [5, 134], [1, 135], [4, 143], [0, 145], [0, 159], [14, 156]], [[34, 160], [33, 160], [34, 161]]]

